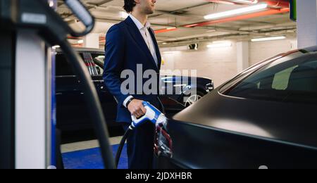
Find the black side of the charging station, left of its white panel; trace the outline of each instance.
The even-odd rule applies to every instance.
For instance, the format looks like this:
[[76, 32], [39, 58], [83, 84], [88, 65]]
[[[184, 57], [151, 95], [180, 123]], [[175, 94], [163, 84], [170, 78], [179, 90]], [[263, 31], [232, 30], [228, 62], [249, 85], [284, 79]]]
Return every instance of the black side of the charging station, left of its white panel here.
[[[1, 7], [2, 8], [2, 7]], [[11, 48], [15, 46], [13, 42], [13, 35], [15, 33], [12, 32], [4, 32], [0, 31], [0, 54], [1, 54], [1, 62], [0, 62], [0, 83], [1, 83], [1, 92], [0, 92], [0, 168], [14, 168], [15, 156], [13, 155], [14, 148], [14, 130], [15, 130], [15, 103], [11, 103], [14, 101], [14, 62], [13, 59], [15, 55], [12, 53]], [[6, 45], [6, 46], [2, 46]]]

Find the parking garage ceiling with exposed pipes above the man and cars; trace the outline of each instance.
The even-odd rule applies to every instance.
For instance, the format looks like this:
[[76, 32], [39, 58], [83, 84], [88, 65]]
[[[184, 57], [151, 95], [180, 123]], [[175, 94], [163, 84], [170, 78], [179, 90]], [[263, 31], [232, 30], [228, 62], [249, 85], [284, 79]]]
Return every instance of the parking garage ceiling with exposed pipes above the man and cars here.
[[[243, 40], [274, 35], [296, 37], [296, 23], [290, 20], [288, 11], [211, 23], [204, 19], [205, 15], [249, 6], [216, 3], [216, 1], [218, 0], [157, 0], [156, 13], [149, 16], [149, 21], [152, 28], [156, 30], [159, 44], [177, 46], [209, 42], [215, 39]], [[82, 2], [97, 19], [94, 33], [99, 33], [101, 37], [104, 37], [113, 24], [119, 23], [126, 17], [122, 8], [123, 0], [83, 0]], [[270, 9], [280, 11], [283, 10], [283, 7], [271, 6]], [[78, 26], [77, 19], [63, 4], [63, 1], [58, 1], [58, 13], [70, 25]]]

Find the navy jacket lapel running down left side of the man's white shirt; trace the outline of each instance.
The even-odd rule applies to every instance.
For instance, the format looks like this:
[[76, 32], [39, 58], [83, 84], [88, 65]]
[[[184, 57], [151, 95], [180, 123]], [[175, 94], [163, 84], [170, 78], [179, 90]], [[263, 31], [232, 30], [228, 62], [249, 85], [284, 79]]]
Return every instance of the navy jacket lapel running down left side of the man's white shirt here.
[[139, 32], [139, 29], [137, 28], [137, 25], [133, 22], [133, 20], [128, 17], [125, 20], [125, 23], [127, 23], [130, 26], [129, 32], [132, 35], [133, 39], [135, 39], [135, 42], [141, 47], [142, 50], [144, 50], [144, 53], [147, 55], [147, 57], [151, 60], [151, 63], [154, 64], [157, 71], [159, 71], [158, 65], [156, 65], [154, 58], [151, 54], [151, 51], [149, 50], [149, 47], [147, 46], [147, 43], [145, 43], [142, 34]]

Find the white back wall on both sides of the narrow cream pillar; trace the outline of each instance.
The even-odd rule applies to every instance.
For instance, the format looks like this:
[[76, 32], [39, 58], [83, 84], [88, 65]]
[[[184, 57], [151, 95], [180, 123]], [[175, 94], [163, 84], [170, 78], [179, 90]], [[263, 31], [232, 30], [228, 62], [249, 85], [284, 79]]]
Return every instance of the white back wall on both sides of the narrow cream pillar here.
[[[249, 42], [249, 66], [278, 53], [296, 49], [296, 39], [272, 42]], [[197, 70], [199, 77], [209, 77], [218, 87], [237, 75], [237, 46], [232, 42], [228, 48], [207, 49], [199, 44], [198, 51], [162, 52], [165, 65], [162, 69]]]

